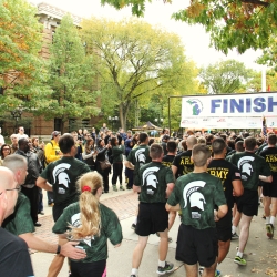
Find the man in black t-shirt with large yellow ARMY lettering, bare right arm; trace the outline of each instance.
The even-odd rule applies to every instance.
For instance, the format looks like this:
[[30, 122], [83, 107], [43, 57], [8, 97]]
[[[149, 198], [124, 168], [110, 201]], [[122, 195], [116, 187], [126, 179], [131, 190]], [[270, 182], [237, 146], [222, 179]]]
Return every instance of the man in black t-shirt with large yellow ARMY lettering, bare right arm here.
[[232, 238], [232, 208], [234, 206], [234, 197], [240, 196], [244, 193], [244, 187], [240, 179], [239, 170], [230, 162], [225, 160], [227, 145], [222, 137], [215, 138], [212, 143], [214, 157], [208, 164], [207, 172], [216, 177], [219, 177], [223, 185], [223, 191], [228, 205], [228, 213], [216, 223], [218, 235], [218, 258], [220, 264], [229, 252]]

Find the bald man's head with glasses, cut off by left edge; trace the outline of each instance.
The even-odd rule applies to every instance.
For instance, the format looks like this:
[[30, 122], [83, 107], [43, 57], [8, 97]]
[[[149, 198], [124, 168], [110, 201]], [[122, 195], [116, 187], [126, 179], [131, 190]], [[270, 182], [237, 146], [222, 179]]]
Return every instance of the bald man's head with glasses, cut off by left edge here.
[[12, 171], [0, 166], [0, 219], [13, 213], [18, 199], [18, 183]]

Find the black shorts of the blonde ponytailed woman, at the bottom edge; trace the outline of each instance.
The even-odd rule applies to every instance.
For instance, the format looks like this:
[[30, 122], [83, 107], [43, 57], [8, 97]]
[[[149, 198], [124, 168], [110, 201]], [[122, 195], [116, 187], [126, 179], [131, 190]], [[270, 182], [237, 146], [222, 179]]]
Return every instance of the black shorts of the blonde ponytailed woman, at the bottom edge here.
[[71, 260], [71, 277], [105, 277], [106, 260], [98, 260], [92, 263], [81, 263]]

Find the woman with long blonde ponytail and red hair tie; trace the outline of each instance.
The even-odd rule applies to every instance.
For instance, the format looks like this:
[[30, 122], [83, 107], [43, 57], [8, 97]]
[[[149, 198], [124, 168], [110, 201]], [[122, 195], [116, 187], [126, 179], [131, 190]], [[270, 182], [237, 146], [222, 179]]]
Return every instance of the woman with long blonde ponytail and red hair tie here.
[[79, 277], [106, 276], [107, 238], [119, 247], [123, 239], [115, 213], [99, 202], [103, 178], [98, 172], [84, 174], [78, 182], [80, 199], [63, 211], [53, 226], [60, 244], [80, 242], [86, 253], [82, 260], [71, 259], [71, 275]]

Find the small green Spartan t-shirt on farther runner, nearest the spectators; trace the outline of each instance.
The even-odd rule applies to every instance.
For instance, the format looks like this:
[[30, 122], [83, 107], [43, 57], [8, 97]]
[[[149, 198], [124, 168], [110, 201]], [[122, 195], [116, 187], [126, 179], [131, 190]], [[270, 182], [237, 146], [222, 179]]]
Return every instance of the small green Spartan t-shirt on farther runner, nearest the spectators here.
[[127, 155], [127, 161], [135, 166], [134, 167], [134, 176], [135, 176], [138, 173], [141, 166], [151, 162], [148, 145], [140, 145], [131, 150]]

